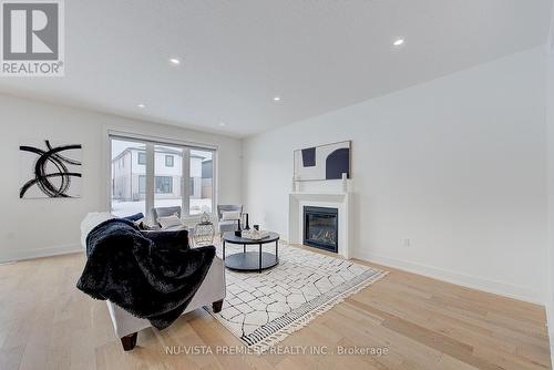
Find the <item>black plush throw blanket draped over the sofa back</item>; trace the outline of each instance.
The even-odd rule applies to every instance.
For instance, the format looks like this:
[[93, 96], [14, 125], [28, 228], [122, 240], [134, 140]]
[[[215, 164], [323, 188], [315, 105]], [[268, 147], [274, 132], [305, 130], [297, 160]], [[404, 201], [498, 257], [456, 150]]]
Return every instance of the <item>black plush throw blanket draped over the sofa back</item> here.
[[110, 219], [86, 237], [76, 287], [165, 329], [183, 314], [214, 256], [214, 246], [191, 249], [186, 230], [142, 234], [130, 220]]

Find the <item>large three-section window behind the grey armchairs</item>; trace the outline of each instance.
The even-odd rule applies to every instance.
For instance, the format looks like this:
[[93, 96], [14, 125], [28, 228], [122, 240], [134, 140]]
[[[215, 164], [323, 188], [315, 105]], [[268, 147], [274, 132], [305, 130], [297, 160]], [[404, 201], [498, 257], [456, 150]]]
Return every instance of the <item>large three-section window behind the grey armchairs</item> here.
[[[214, 150], [116, 134], [110, 140], [114, 215], [142, 212], [151, 216], [153, 207], [173, 206], [179, 206], [185, 217], [213, 212]], [[131, 154], [126, 166], [123, 162], [130, 161]]]

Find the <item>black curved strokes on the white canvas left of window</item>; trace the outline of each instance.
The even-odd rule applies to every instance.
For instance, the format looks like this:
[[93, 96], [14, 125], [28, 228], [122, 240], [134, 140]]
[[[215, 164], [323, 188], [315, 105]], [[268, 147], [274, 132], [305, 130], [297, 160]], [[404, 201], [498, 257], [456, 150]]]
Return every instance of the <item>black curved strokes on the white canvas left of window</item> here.
[[[21, 186], [19, 197], [23, 198], [33, 186], [51, 198], [69, 198], [72, 177], [81, 177], [80, 172], [70, 171], [70, 167], [81, 166], [81, 162], [62, 154], [65, 151], [81, 150], [80, 144], [62, 145], [53, 147], [50, 141], [45, 140], [45, 150], [34, 146], [20, 146], [22, 152], [38, 155], [33, 166], [34, 178], [29, 179]], [[55, 182], [53, 182], [55, 179]]]

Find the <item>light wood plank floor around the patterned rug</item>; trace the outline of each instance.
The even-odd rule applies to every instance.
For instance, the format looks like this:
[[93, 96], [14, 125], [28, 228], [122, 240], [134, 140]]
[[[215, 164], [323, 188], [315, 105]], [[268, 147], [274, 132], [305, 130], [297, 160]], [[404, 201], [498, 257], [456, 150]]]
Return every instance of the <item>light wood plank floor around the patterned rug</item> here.
[[[280, 343], [381, 347], [386, 356], [217, 353], [240, 342], [203, 310], [163, 332], [141, 331], [123, 352], [106, 305], [75, 288], [83, 265], [74, 254], [0, 266], [0, 369], [551, 368], [542, 307], [390, 268]], [[166, 346], [214, 353], [172, 356]]]

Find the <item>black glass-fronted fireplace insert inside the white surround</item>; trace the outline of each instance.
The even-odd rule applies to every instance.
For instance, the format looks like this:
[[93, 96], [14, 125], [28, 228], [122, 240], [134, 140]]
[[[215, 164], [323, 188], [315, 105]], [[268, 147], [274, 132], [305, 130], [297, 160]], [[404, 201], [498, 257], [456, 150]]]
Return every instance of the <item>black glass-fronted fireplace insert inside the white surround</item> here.
[[304, 207], [304, 245], [338, 251], [339, 210]]

